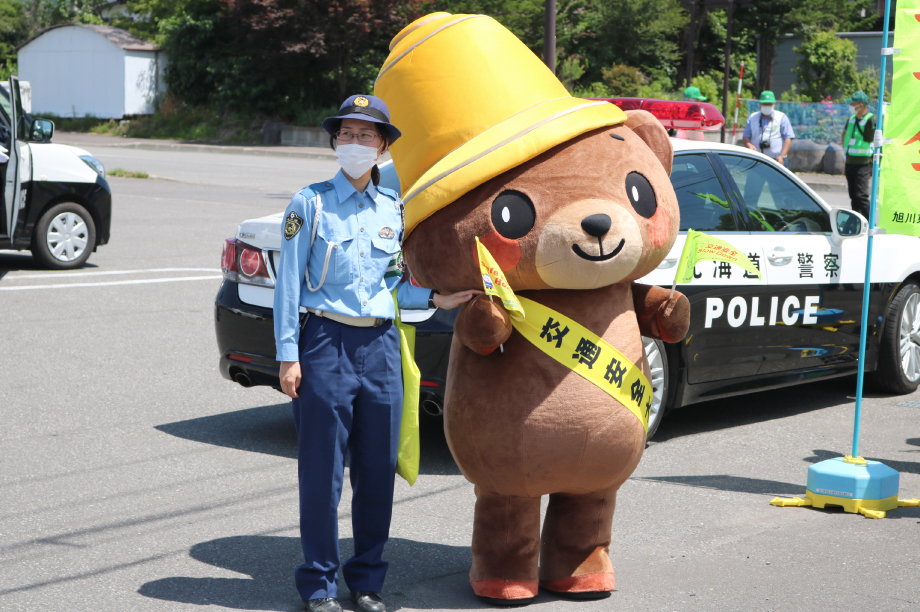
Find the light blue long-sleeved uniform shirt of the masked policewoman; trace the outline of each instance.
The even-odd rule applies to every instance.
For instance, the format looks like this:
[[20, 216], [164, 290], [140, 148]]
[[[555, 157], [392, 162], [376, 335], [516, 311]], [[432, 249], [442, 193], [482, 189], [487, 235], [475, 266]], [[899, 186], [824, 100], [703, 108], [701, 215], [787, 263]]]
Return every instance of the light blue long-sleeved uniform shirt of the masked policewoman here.
[[[322, 210], [310, 248], [317, 195]], [[294, 196], [284, 212], [275, 282], [278, 361], [300, 359], [301, 306], [351, 317], [394, 319], [391, 293], [398, 285], [400, 308], [428, 308], [431, 290], [400, 282], [402, 272], [390, 265], [402, 250], [402, 233], [402, 202], [396, 192], [370, 182], [364, 193], [358, 193], [341, 170], [331, 181], [305, 187]], [[326, 279], [320, 286], [327, 253]], [[315, 292], [307, 286], [305, 271], [313, 287], [318, 287]]]

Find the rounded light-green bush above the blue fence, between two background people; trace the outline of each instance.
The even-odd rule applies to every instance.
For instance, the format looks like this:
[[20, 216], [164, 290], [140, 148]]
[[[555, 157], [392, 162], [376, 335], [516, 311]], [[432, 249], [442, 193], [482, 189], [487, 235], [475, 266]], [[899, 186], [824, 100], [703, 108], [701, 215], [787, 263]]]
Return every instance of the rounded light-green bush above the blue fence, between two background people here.
[[795, 48], [801, 56], [793, 69], [812, 102], [848, 89], [856, 80], [856, 45], [833, 32], [815, 32]]

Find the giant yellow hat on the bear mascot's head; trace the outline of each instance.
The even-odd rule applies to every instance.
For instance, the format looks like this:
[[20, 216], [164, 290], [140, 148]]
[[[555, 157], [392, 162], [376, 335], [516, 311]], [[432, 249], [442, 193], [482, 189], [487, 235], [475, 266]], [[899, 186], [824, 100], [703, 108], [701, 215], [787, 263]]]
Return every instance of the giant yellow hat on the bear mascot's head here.
[[569, 95], [503, 25], [432, 13], [390, 43], [374, 95], [402, 138], [390, 152], [406, 234], [460, 196], [579, 134], [626, 121], [608, 102]]

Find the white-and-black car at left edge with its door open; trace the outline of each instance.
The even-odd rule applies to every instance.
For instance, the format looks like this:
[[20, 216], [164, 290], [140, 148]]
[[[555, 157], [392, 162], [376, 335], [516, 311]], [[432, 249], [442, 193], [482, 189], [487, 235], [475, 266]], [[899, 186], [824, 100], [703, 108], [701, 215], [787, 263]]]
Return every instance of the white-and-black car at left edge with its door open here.
[[23, 112], [19, 80], [0, 87], [0, 249], [32, 251], [44, 267], [86, 263], [109, 241], [112, 191], [83, 149], [53, 144], [54, 124]]

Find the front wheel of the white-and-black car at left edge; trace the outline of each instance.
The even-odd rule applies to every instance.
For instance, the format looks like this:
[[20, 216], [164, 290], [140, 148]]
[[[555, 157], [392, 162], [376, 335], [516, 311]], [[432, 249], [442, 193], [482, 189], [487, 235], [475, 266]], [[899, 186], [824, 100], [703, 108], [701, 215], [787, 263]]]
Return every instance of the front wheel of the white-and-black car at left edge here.
[[48, 209], [35, 225], [32, 236], [32, 255], [46, 268], [55, 270], [79, 268], [95, 246], [93, 217], [73, 202]]

